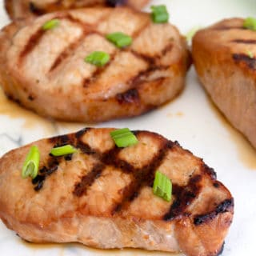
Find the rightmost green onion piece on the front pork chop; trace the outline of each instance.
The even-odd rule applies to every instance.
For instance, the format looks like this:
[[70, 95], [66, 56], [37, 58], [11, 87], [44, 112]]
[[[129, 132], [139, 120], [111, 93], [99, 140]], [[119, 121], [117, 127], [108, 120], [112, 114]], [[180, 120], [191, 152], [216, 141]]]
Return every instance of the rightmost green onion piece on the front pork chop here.
[[170, 178], [157, 170], [154, 178], [153, 193], [167, 202], [170, 202], [171, 190], [172, 184]]

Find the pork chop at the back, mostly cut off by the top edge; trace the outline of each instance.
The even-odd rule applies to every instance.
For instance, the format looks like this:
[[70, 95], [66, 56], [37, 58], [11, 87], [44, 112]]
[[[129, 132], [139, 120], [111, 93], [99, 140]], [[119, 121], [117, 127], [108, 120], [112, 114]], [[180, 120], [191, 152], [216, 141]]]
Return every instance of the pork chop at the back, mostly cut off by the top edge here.
[[34, 17], [56, 10], [69, 10], [92, 6], [130, 6], [141, 9], [149, 0], [5, 0], [10, 18]]

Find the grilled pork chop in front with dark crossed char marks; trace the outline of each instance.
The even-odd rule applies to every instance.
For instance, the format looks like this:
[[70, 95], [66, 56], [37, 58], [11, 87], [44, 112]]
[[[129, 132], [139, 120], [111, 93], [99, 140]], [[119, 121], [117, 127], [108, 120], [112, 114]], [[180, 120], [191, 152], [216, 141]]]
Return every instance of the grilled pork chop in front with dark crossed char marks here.
[[[233, 218], [230, 192], [214, 170], [178, 142], [134, 131], [138, 144], [118, 148], [113, 129], [85, 129], [42, 139], [0, 159], [0, 217], [30, 242], [82, 242], [214, 256]], [[73, 155], [53, 157], [70, 144]], [[38, 177], [22, 179], [31, 145], [41, 152]], [[156, 170], [172, 181], [170, 202], [152, 192]]]

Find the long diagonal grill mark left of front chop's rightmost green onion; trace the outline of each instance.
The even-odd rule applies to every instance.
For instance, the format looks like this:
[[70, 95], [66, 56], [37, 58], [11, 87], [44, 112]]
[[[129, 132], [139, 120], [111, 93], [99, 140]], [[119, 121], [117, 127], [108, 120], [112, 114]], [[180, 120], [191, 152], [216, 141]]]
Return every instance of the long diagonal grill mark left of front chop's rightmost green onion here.
[[126, 209], [130, 205], [130, 202], [138, 197], [140, 190], [142, 190], [144, 186], [153, 186], [154, 173], [166, 157], [166, 151], [173, 146], [173, 142], [166, 141], [162, 148], [158, 150], [158, 154], [151, 159], [149, 164], [140, 169], [135, 168], [132, 171], [133, 181], [124, 188], [122, 200], [113, 206], [112, 214], [116, 214], [120, 210]]

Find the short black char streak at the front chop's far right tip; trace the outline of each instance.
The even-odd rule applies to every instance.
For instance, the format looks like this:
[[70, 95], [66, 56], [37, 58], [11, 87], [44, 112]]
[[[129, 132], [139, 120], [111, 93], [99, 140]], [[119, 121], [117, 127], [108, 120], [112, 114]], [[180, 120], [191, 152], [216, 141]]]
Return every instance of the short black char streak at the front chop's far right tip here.
[[234, 208], [234, 199], [233, 198], [226, 199], [223, 202], [221, 202], [213, 212], [209, 214], [196, 215], [194, 217], [194, 225], [198, 226], [206, 222], [210, 222], [211, 220], [216, 218], [218, 214], [226, 213], [228, 211], [233, 210], [233, 208]]

